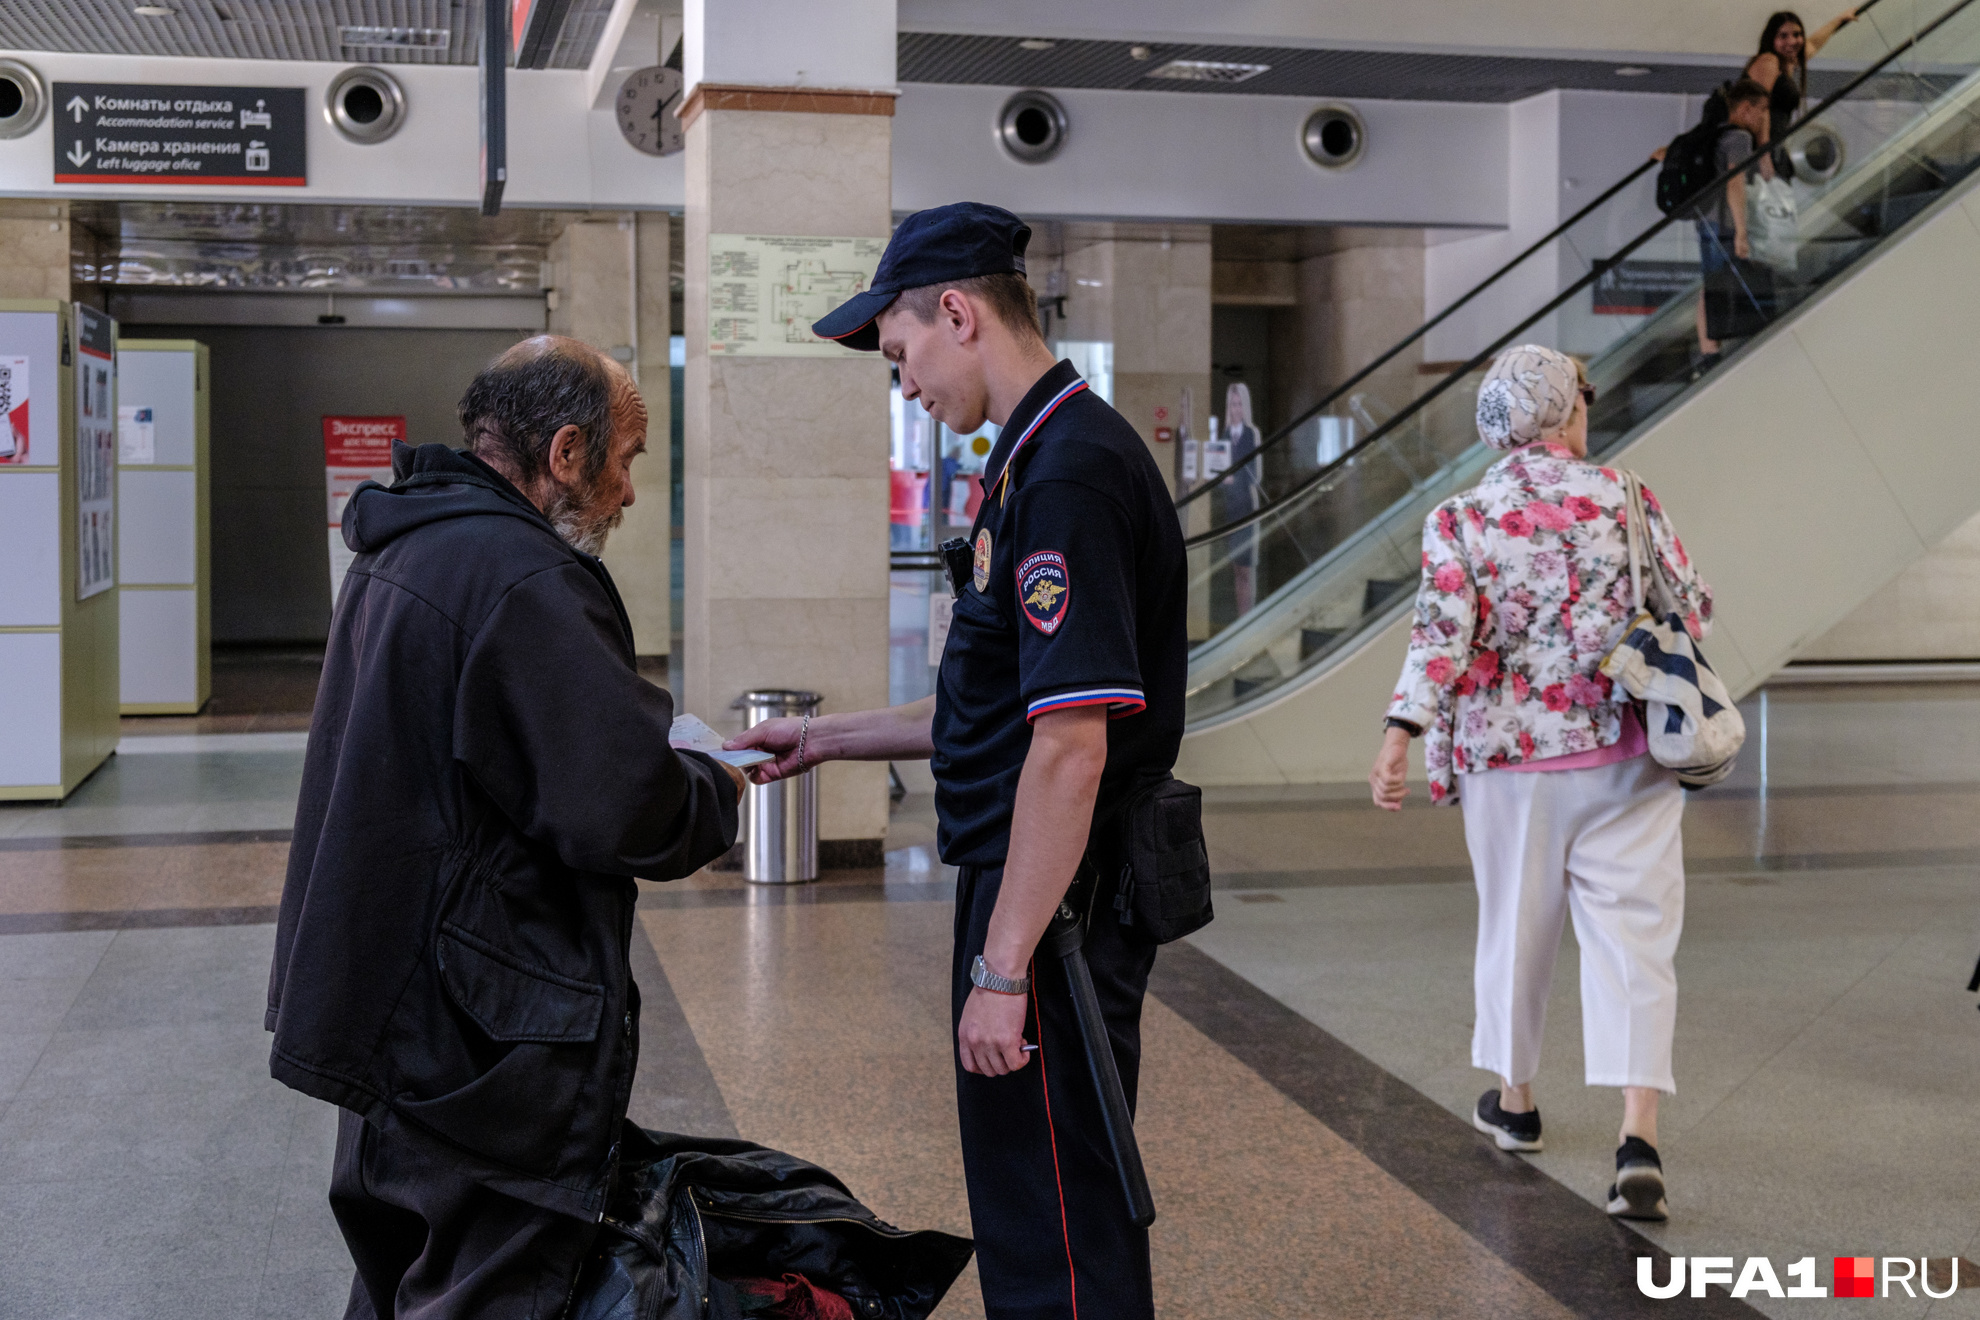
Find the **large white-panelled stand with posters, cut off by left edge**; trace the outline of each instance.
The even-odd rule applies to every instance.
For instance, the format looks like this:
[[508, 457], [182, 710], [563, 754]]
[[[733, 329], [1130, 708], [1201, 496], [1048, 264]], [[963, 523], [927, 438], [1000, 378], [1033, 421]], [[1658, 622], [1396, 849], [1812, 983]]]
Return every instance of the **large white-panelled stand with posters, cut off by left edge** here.
[[0, 800], [117, 750], [117, 323], [0, 301]]

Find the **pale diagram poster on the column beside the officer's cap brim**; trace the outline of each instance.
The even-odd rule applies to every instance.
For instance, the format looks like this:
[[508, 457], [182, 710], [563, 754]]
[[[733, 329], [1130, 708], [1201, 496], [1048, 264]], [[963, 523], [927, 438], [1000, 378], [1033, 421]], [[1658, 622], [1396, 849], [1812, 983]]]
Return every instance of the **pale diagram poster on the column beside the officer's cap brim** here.
[[873, 283], [883, 237], [709, 236], [709, 352], [733, 358], [861, 356], [812, 323]]

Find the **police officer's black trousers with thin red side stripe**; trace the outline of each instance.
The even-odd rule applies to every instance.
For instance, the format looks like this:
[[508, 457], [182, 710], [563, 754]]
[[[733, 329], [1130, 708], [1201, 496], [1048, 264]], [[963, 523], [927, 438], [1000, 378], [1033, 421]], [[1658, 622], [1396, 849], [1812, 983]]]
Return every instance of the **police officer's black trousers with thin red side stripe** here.
[[[970, 962], [984, 948], [1004, 869], [962, 867], [956, 881], [952, 1021], [970, 995]], [[1135, 1106], [1140, 999], [1154, 946], [1123, 938], [1103, 887], [1087, 924], [1087, 966], [1107, 1019], [1115, 1067]], [[1032, 964], [1026, 1039], [1032, 1063], [1004, 1077], [956, 1061], [962, 1172], [970, 1189], [976, 1271], [988, 1320], [1152, 1320], [1148, 1233], [1127, 1217], [1087, 1075], [1071, 990], [1055, 958]], [[954, 1047], [954, 1037], [950, 1037]]]

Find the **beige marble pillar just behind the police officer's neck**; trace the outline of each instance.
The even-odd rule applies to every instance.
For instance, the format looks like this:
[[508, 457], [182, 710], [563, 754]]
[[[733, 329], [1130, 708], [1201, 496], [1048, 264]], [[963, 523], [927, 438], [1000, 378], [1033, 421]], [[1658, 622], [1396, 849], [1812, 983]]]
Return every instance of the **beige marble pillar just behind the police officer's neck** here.
[[1053, 334], [1113, 344], [1113, 404], [1174, 479], [1174, 443], [1156, 427], [1180, 422], [1184, 390], [1198, 437], [1222, 412], [1210, 398], [1210, 228], [1067, 226], [1063, 261], [1065, 327]]

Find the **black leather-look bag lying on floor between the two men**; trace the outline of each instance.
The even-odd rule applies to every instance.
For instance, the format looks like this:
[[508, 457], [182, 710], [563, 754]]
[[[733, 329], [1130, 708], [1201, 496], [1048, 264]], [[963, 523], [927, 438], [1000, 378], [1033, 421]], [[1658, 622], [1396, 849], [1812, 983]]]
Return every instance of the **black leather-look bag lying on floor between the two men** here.
[[568, 1320], [741, 1320], [727, 1280], [798, 1274], [855, 1320], [927, 1320], [976, 1251], [966, 1237], [881, 1221], [796, 1156], [632, 1122]]

